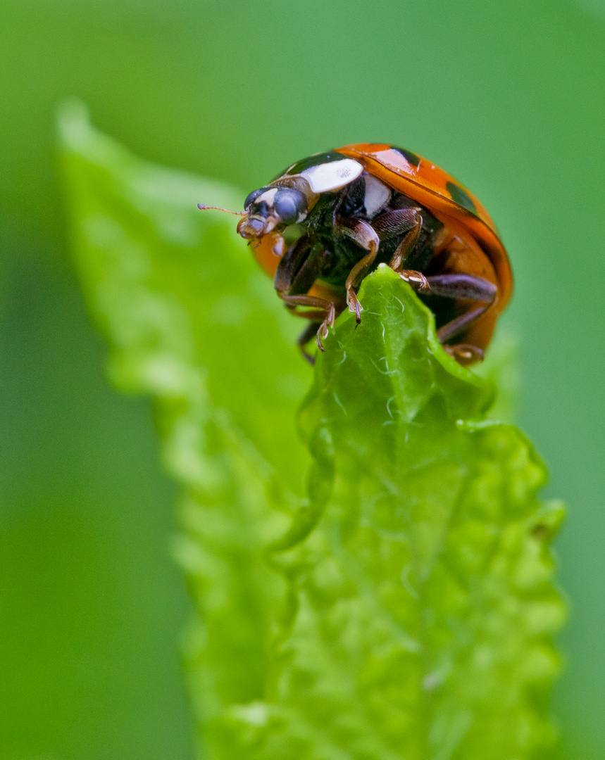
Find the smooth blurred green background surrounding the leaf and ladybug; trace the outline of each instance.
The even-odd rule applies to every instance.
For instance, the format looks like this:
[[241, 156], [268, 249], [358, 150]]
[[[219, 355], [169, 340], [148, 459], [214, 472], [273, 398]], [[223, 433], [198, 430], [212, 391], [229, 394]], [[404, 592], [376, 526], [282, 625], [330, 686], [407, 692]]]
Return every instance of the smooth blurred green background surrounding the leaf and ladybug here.
[[70, 268], [66, 96], [142, 157], [244, 191], [388, 141], [486, 204], [517, 280], [519, 423], [569, 507], [561, 756], [603, 758], [605, 0], [2, 0], [0, 758], [191, 760], [174, 490]]

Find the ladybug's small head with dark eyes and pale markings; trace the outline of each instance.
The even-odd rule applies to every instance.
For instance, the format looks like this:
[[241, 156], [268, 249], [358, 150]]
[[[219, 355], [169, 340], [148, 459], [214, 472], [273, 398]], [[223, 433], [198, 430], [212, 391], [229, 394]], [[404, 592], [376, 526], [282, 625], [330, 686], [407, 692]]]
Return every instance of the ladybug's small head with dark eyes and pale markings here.
[[260, 238], [304, 220], [307, 196], [296, 188], [267, 185], [251, 192], [244, 208], [246, 214], [237, 225], [237, 232], [245, 239]]

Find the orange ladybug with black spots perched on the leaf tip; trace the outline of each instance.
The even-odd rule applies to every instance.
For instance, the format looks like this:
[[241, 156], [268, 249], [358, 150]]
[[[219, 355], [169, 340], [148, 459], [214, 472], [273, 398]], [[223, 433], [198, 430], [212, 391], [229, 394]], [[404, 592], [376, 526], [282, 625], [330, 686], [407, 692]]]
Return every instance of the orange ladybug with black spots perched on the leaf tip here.
[[359, 285], [381, 263], [434, 312], [454, 359], [483, 358], [511, 267], [486, 209], [431, 161], [394, 145], [346, 145], [288, 166], [244, 208], [237, 232], [285, 306], [309, 320], [298, 344], [311, 363], [307, 345], [315, 338], [325, 350], [344, 309], [361, 321]]

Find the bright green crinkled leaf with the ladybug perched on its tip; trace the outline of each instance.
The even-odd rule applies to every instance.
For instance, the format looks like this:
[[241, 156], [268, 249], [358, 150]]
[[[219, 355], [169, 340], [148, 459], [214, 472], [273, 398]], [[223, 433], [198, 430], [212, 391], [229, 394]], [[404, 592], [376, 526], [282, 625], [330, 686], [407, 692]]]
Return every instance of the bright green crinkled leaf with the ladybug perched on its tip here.
[[[237, 192], [61, 121], [75, 257], [120, 388], [183, 490], [186, 644], [212, 760], [523, 760], [549, 746], [562, 517], [489, 381], [390, 269], [314, 375], [234, 234]], [[296, 432], [295, 414], [302, 404]], [[304, 486], [305, 473], [307, 485]]]

